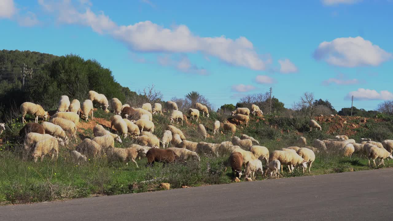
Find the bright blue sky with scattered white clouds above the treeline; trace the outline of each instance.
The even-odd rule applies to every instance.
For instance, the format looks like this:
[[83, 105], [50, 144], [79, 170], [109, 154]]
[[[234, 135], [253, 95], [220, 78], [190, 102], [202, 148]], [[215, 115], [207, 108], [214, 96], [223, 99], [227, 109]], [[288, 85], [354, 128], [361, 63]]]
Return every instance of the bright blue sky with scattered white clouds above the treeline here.
[[0, 49], [96, 59], [131, 90], [215, 105], [304, 92], [336, 109], [393, 99], [393, 0], [0, 0]]

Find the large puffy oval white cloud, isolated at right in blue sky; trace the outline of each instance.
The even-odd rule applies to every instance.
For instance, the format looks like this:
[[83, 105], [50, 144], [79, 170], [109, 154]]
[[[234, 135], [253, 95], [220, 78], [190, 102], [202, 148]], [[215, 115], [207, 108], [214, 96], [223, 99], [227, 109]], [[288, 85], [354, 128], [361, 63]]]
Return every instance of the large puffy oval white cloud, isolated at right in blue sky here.
[[378, 66], [392, 54], [358, 36], [324, 41], [315, 50], [314, 58], [340, 67]]

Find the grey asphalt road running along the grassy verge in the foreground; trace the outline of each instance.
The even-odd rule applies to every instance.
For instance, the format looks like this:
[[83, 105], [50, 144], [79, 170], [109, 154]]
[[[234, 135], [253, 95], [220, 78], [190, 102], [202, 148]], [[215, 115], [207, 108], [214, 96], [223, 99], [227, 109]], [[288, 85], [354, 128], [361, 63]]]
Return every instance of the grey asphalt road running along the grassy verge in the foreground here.
[[393, 169], [0, 207], [0, 220], [393, 220]]

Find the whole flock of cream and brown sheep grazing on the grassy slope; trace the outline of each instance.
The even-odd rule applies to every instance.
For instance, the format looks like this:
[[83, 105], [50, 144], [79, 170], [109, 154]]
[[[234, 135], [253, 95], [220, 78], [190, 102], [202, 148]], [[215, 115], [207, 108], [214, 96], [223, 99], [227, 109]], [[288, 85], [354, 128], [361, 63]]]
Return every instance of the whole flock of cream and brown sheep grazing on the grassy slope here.
[[[315, 160], [315, 153], [321, 151], [341, 151], [343, 156], [351, 157], [354, 152], [364, 154], [370, 160], [381, 160], [380, 164], [384, 164], [385, 158], [393, 158], [393, 140], [385, 140], [382, 143], [373, 142], [370, 139], [363, 139], [361, 143], [356, 143], [347, 136], [336, 136], [335, 139], [315, 140], [314, 147], [307, 146], [304, 137], [298, 139], [297, 146], [283, 148], [281, 150], [272, 151], [259, 145], [259, 142], [253, 137], [242, 134], [241, 137], [234, 136], [236, 124], [223, 122], [223, 131], [230, 132], [232, 138], [230, 141], [224, 141], [220, 144], [207, 143], [207, 131], [203, 124], [198, 125], [198, 133], [204, 138], [201, 142], [192, 142], [186, 140], [183, 132], [173, 125], [167, 125], [162, 137], [159, 139], [154, 135], [154, 123], [152, 115], [163, 114], [163, 108], [160, 103], [154, 103], [153, 107], [150, 103], [145, 103], [141, 108], [130, 107], [130, 105], [122, 105], [117, 98], [110, 100], [103, 94], [95, 91], [89, 91], [89, 99], [82, 104], [74, 99], [70, 102], [68, 96], [61, 96], [58, 104], [57, 112], [49, 118], [40, 105], [25, 102], [20, 105], [22, 113], [22, 123], [25, 123], [26, 114], [35, 116], [35, 122], [26, 123], [20, 130], [20, 136], [24, 137], [24, 156], [32, 156], [34, 161], [44, 158], [50, 153], [54, 159], [59, 156], [59, 146], [68, 146], [70, 139], [76, 139], [76, 131], [83, 117], [88, 121], [91, 112], [93, 118], [93, 103], [97, 103], [103, 110], [109, 112], [108, 107], [112, 108], [114, 116], [110, 119], [111, 130], [116, 129], [116, 133], [107, 131], [102, 125], [95, 125], [93, 129], [94, 138], [85, 138], [75, 149], [68, 147], [72, 158], [80, 164], [89, 158], [98, 158], [107, 155], [108, 159], [120, 160], [121, 162], [132, 161], [138, 167], [136, 158], [147, 157], [147, 165], [153, 166], [154, 162], [163, 162], [163, 166], [167, 163], [185, 162], [188, 159], [200, 160], [200, 154], [213, 154], [219, 156], [222, 153], [230, 153], [230, 157], [225, 165], [232, 169], [233, 178], [241, 178], [244, 171], [247, 180], [255, 179], [255, 173], [269, 174], [273, 177], [279, 177], [283, 172], [283, 166], [288, 166], [288, 171], [292, 171], [300, 167], [303, 173], [308, 167], [309, 173], [312, 163]], [[167, 110], [170, 111], [169, 120], [171, 123], [182, 123], [184, 117], [183, 112], [178, 110], [176, 103], [167, 101]], [[208, 108], [205, 105], [196, 103], [195, 109], [190, 108], [186, 114], [192, 120], [198, 122], [200, 112], [202, 116], [209, 117]], [[252, 105], [251, 111], [248, 108], [237, 108], [231, 115], [232, 119], [237, 123], [245, 123], [246, 127], [250, 121], [250, 114], [262, 114], [257, 105]], [[38, 123], [38, 119], [43, 118], [44, 122]], [[48, 121], [46, 121], [48, 120]], [[180, 120], [180, 122], [179, 122]], [[315, 121], [310, 120], [310, 130], [320, 129], [321, 126]], [[221, 123], [217, 120], [214, 122], [213, 134], [219, 133]], [[1, 132], [5, 130], [4, 123], [0, 124]], [[127, 148], [116, 148], [114, 142], [121, 143], [121, 137], [131, 136], [134, 144]], [[172, 147], [169, 147], [169, 144]], [[257, 145], [254, 145], [257, 144]], [[266, 170], [263, 170], [262, 161], [266, 162]], [[379, 165], [380, 165], [379, 164]], [[244, 169], [243, 169], [244, 168]]]

